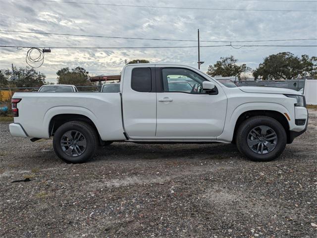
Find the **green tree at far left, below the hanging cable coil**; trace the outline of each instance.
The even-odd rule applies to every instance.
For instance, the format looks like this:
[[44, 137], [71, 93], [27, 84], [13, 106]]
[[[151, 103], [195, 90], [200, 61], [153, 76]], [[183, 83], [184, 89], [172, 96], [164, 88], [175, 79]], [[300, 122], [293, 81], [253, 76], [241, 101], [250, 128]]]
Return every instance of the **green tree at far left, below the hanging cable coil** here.
[[11, 69], [5, 69], [4, 74], [8, 78], [8, 84], [16, 87], [40, 87], [46, 83], [45, 74], [28, 66], [14, 67], [14, 74]]

